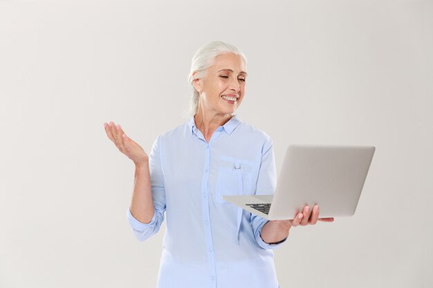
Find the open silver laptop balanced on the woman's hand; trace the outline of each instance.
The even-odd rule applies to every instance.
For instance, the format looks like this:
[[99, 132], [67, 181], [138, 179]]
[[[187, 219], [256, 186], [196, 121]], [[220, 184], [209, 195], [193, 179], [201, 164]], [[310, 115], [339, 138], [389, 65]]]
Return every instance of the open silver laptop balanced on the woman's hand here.
[[374, 146], [291, 145], [274, 195], [226, 195], [223, 200], [268, 220], [293, 219], [304, 205], [315, 204], [319, 218], [351, 216], [374, 151]]

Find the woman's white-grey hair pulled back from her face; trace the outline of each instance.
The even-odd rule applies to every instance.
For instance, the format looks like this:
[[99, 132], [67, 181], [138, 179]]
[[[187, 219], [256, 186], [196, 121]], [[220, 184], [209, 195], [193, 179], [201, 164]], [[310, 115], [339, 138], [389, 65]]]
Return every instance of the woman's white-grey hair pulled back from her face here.
[[[191, 70], [188, 77], [188, 82], [190, 83], [190, 86], [192, 88], [192, 95], [190, 99], [190, 116], [194, 116], [197, 113], [197, 110], [199, 109], [200, 99], [200, 95], [194, 88], [194, 85], [192, 85], [192, 82], [195, 79], [200, 79], [201, 77], [203, 77], [205, 70], [210, 67], [212, 61], [215, 59], [216, 56], [225, 53], [234, 53], [236, 55], [239, 55], [246, 65], [247, 61], [245, 55], [243, 55], [243, 52], [239, 50], [239, 48], [237, 48], [236, 46], [225, 43], [223, 41], [212, 41], [208, 44], [201, 46], [201, 48], [197, 50], [196, 54], [194, 54], [194, 57], [192, 57]], [[193, 76], [192, 74], [194, 72], [197, 73]]]

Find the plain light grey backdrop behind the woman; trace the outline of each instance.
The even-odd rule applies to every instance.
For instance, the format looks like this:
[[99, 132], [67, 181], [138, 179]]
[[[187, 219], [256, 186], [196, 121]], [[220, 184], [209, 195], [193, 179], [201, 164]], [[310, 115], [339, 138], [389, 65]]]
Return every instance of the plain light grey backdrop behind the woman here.
[[358, 209], [296, 227], [281, 287], [433, 287], [433, 1], [0, 1], [0, 287], [154, 287], [165, 226], [126, 219], [133, 163], [187, 121], [194, 52], [248, 57], [237, 115], [275, 142], [368, 144]]

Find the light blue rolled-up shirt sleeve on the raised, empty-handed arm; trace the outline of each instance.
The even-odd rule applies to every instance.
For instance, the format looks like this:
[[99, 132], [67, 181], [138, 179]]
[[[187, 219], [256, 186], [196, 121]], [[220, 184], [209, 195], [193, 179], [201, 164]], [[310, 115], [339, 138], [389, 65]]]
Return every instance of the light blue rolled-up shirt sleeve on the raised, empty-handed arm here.
[[164, 173], [160, 153], [160, 137], [156, 139], [149, 154], [149, 173], [154, 201], [155, 213], [149, 223], [142, 223], [133, 217], [131, 211], [127, 210], [127, 220], [137, 240], [144, 241], [159, 231], [164, 222], [165, 212], [165, 188]]

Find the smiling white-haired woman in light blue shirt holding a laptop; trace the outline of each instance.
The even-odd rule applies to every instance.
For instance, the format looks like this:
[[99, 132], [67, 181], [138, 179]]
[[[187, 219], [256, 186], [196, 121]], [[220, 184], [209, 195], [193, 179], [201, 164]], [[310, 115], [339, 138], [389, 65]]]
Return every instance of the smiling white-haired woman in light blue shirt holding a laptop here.
[[272, 140], [233, 115], [246, 77], [246, 57], [236, 47], [221, 41], [201, 47], [190, 72], [194, 116], [158, 136], [149, 157], [120, 125], [104, 123], [136, 166], [127, 211], [136, 238], [158, 232], [166, 213], [160, 288], [279, 287], [272, 249], [291, 227], [320, 220], [317, 206], [294, 220], [268, 221], [221, 199], [275, 189]]

